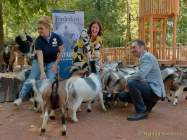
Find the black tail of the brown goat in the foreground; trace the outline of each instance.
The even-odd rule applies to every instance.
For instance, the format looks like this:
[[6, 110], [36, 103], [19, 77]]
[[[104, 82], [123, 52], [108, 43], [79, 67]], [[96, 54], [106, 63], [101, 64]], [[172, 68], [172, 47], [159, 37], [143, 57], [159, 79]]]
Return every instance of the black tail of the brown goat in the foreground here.
[[52, 93], [50, 97], [51, 108], [57, 109], [59, 107], [59, 94], [58, 94], [58, 79], [52, 83]]

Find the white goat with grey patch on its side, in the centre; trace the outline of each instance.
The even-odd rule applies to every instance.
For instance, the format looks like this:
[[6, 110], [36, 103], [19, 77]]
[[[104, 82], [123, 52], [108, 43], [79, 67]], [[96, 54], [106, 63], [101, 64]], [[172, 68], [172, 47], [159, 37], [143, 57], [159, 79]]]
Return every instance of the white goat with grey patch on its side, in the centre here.
[[71, 119], [77, 122], [77, 109], [82, 102], [88, 102], [88, 111], [91, 111], [91, 102], [98, 96], [101, 107], [106, 108], [103, 102], [102, 84], [97, 74], [92, 73], [86, 78], [72, 76], [65, 84], [65, 92], [69, 96], [67, 107], [72, 111]]

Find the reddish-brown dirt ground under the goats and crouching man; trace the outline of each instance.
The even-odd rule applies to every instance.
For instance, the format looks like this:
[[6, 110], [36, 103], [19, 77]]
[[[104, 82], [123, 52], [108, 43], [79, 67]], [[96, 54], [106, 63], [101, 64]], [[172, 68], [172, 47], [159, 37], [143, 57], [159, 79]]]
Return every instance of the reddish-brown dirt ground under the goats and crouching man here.
[[103, 112], [98, 103], [92, 112], [83, 105], [78, 123], [68, 122], [66, 137], [60, 133], [60, 115], [49, 120], [47, 132], [40, 136], [40, 113], [25, 102], [17, 109], [12, 102], [0, 104], [0, 140], [187, 140], [187, 100], [177, 106], [160, 101], [149, 118], [129, 122], [132, 105], [121, 105]]

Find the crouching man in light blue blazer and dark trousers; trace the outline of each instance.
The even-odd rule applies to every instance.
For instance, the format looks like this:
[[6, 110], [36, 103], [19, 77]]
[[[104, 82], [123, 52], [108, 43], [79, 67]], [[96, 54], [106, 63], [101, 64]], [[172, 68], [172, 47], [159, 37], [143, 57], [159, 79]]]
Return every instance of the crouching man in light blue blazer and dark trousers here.
[[119, 93], [122, 101], [132, 102], [136, 113], [127, 120], [136, 121], [148, 117], [157, 101], [165, 97], [165, 89], [157, 59], [144, 50], [142, 40], [134, 40], [131, 53], [139, 58], [139, 70], [128, 78], [128, 93]]

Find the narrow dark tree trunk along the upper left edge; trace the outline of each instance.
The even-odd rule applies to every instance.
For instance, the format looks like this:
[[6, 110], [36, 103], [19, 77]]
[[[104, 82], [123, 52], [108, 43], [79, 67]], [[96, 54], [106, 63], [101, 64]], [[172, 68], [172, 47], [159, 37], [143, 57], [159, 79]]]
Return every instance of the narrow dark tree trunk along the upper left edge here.
[[2, 1], [0, 1], [0, 51], [2, 50], [2, 46], [4, 43], [4, 33], [3, 33], [3, 7]]

